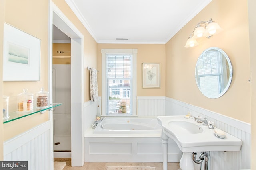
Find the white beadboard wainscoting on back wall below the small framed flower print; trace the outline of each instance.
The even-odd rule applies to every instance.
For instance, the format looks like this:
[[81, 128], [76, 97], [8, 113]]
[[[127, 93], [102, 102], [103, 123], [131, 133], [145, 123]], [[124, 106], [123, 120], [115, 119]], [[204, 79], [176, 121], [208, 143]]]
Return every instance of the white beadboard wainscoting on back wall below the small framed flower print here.
[[165, 97], [164, 96], [138, 96], [137, 97], [138, 116], [164, 116]]

